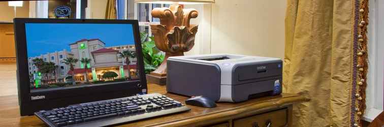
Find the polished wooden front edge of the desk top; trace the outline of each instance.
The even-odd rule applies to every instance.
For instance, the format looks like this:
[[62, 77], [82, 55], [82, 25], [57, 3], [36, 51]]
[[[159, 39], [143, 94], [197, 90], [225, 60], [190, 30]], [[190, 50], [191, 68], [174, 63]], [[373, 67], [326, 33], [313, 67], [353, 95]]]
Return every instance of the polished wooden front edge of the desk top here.
[[[246, 117], [252, 114], [262, 113], [268, 110], [279, 109], [283, 107], [287, 107], [293, 104], [298, 104], [302, 102], [308, 102], [310, 99], [304, 98], [303, 96], [292, 96], [283, 100], [277, 101], [264, 101], [257, 104], [249, 104], [237, 107], [235, 109], [223, 110], [212, 112], [209, 114], [188, 117], [183, 119], [178, 119], [174, 121], [166, 121], [162, 123], [156, 123], [148, 126], [202, 126], [209, 123], [217, 123], [220, 121], [225, 121], [227, 119], [231, 119], [234, 117]], [[209, 123], [207, 122], [197, 122], [197, 121], [205, 121], [209, 119]]]

